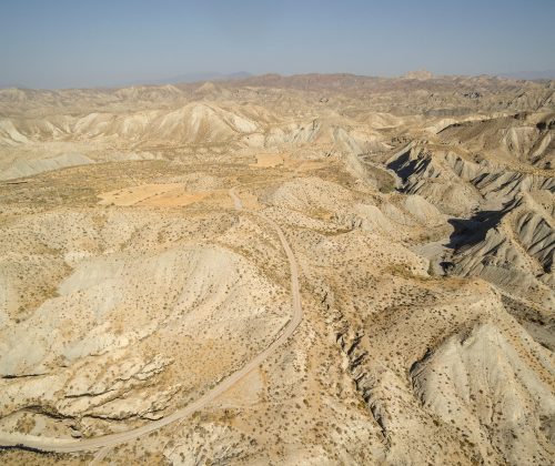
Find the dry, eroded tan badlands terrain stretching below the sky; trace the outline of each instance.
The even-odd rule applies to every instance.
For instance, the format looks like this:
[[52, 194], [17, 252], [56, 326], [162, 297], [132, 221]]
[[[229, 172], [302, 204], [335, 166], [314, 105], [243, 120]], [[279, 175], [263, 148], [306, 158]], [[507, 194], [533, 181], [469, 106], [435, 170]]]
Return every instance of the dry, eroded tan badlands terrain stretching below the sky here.
[[0, 90], [0, 463], [553, 464], [554, 93]]

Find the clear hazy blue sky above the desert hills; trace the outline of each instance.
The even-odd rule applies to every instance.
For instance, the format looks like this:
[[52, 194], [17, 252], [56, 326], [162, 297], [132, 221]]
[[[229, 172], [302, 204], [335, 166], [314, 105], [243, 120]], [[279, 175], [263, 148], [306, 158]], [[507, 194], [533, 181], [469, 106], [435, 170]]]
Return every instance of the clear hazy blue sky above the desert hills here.
[[555, 70], [555, 0], [0, 0], [0, 87]]

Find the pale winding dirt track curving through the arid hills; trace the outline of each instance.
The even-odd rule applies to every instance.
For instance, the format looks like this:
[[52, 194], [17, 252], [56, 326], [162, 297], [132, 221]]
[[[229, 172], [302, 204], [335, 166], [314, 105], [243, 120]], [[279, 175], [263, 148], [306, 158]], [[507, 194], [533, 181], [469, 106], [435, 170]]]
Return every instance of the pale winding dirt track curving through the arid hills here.
[[[243, 209], [241, 199], [236, 195], [235, 190], [231, 189], [229, 191], [233, 204], [238, 211]], [[133, 440], [143, 435], [150, 434], [151, 432], [158, 430], [171, 423], [180, 421], [186, 416], [190, 416], [194, 412], [201, 409], [215, 398], [218, 398], [225, 391], [231, 388], [241, 378], [249, 374], [252, 369], [256, 368], [262, 362], [278, 350], [283, 343], [285, 343], [293, 332], [296, 330], [299, 324], [303, 318], [303, 310], [301, 305], [301, 293], [299, 286], [299, 266], [296, 264], [295, 256], [291, 250], [285, 235], [278, 223], [265, 217], [263, 214], [252, 212], [258, 217], [265, 221], [278, 234], [280, 242], [287, 256], [290, 272], [291, 272], [291, 296], [292, 296], [292, 307], [293, 315], [291, 321], [287, 323], [283, 333], [262, 353], [256, 355], [253, 359], [246, 363], [242, 368], [231, 374], [229, 377], [224, 378], [214, 388], [202, 395], [199, 399], [191, 403], [190, 405], [178, 409], [176, 412], [170, 414], [158, 421], [153, 421], [144, 426], [133, 428], [131, 430], [120, 432], [117, 434], [103, 435], [93, 438], [73, 439], [73, 438], [52, 438], [52, 437], [39, 437], [33, 435], [24, 434], [7, 434], [0, 433], [0, 447], [19, 447], [28, 449], [39, 449], [42, 452], [57, 452], [57, 453], [74, 453], [92, 450], [98, 448], [112, 447], [125, 442]]]

